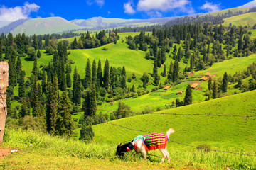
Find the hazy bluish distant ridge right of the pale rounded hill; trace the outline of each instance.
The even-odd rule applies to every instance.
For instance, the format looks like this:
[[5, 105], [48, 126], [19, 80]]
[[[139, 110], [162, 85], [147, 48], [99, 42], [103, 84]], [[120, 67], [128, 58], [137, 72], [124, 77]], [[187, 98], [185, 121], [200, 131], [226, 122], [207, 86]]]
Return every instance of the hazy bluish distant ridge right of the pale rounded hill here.
[[75, 19], [70, 21], [78, 26], [91, 26], [94, 28], [114, 28], [119, 26], [149, 26], [163, 24], [177, 17], [151, 18], [151, 19], [122, 19], [122, 18], [103, 18], [93, 17], [89, 19]]

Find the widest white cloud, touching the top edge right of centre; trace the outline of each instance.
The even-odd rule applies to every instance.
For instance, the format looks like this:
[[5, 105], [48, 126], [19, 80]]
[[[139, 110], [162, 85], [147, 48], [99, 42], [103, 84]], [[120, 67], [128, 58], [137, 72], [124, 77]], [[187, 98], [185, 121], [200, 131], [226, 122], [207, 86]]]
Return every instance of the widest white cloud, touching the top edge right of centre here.
[[188, 0], [139, 0], [137, 11], [171, 11], [176, 8], [186, 12], [186, 6], [190, 5]]

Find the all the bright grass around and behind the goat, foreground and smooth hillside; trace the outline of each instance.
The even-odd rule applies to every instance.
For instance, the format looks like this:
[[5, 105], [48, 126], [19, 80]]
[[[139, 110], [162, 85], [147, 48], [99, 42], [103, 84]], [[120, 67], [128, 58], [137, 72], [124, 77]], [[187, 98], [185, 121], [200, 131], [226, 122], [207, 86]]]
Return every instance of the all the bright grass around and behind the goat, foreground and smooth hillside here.
[[[174, 108], [166, 113], [183, 115], [138, 115], [112, 121], [135, 130], [166, 132], [174, 128], [170, 139], [183, 144], [210, 145], [211, 149], [240, 154], [256, 154], [255, 118], [210, 116], [208, 114], [255, 115], [256, 91], [218, 98], [190, 106]], [[185, 115], [201, 113], [208, 116]], [[95, 140], [85, 143], [40, 132], [6, 130], [4, 148], [19, 149], [0, 159], [3, 169], [255, 169], [256, 157], [223, 152], [202, 152], [196, 148], [169, 142], [170, 164], [159, 164], [159, 157], [142, 156], [129, 152], [126, 158], [115, 157], [119, 142], [128, 142], [139, 134], [110, 124], [94, 125]]]

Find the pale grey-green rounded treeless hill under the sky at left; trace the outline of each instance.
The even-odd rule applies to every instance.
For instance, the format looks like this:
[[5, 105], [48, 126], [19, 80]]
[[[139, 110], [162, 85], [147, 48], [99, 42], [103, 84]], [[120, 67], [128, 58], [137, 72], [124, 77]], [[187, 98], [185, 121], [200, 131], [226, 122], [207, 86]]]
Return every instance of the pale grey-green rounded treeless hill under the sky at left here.
[[14, 35], [18, 33], [26, 33], [26, 35], [42, 35], [42, 34], [52, 34], [61, 33], [67, 30], [81, 29], [85, 27], [77, 26], [74, 23], [60, 18], [60, 17], [50, 17], [50, 18], [35, 18], [26, 21], [21, 26], [18, 26], [11, 31]]

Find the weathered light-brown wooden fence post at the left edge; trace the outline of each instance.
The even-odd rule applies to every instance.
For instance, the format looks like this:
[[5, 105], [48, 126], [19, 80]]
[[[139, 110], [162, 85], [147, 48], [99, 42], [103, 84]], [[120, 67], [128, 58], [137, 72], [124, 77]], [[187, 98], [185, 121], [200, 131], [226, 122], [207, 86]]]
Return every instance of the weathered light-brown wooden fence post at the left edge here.
[[3, 142], [4, 126], [7, 116], [6, 89], [9, 76], [8, 62], [0, 62], [0, 145]]

